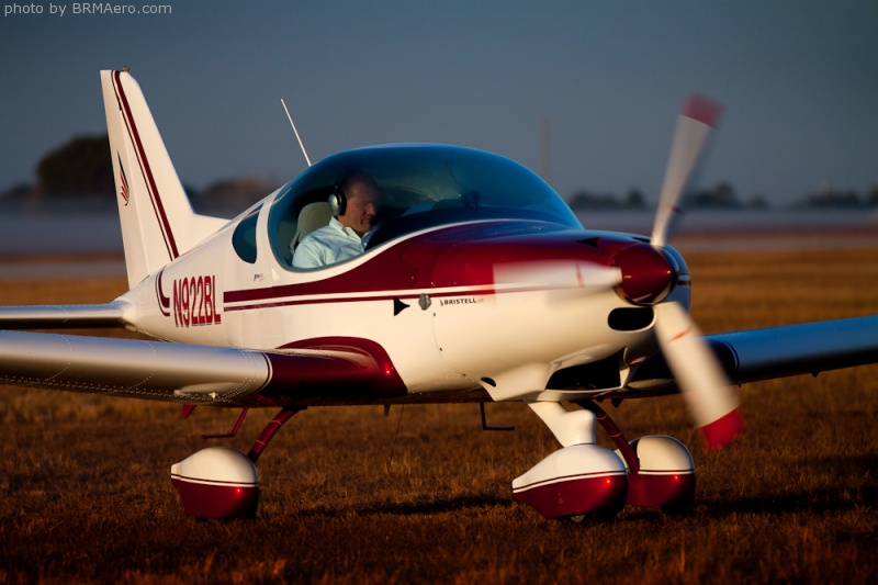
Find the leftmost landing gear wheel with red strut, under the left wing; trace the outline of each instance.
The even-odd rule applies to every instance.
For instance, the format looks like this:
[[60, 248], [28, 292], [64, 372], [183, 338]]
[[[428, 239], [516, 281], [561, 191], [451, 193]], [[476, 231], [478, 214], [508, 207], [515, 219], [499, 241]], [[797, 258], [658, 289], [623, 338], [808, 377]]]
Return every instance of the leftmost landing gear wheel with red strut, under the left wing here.
[[[274, 434], [302, 408], [283, 408], [266, 425], [246, 455], [237, 449], [209, 447], [171, 465], [171, 483], [183, 510], [199, 518], [254, 518], [259, 504], [256, 462]], [[183, 410], [187, 416], [190, 410]], [[233, 436], [246, 414], [241, 413]]]

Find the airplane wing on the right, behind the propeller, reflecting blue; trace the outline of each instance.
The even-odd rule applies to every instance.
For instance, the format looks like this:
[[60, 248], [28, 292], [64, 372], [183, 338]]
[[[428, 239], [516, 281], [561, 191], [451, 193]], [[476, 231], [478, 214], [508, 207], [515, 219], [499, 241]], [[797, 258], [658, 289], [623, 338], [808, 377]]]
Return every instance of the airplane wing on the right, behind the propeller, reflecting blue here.
[[[735, 384], [878, 363], [878, 316], [713, 334], [705, 339]], [[638, 369], [629, 382], [631, 390], [623, 394], [665, 394], [674, 391], [672, 380], [658, 353]]]

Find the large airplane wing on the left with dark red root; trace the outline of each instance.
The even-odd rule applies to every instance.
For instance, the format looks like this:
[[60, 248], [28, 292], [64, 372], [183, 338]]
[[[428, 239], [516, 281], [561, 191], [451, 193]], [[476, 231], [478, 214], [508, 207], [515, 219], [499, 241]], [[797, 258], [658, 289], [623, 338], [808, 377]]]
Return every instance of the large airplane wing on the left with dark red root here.
[[339, 342], [266, 352], [12, 330], [0, 330], [0, 384], [228, 407], [405, 394], [382, 356]]

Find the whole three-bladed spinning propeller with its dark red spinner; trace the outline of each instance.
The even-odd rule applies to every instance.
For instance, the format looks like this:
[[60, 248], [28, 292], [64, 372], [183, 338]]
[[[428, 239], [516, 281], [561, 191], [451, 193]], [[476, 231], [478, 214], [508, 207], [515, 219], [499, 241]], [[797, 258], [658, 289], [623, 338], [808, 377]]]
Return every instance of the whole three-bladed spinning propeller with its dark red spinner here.
[[719, 102], [705, 95], [693, 94], [686, 101], [677, 122], [649, 243], [624, 247], [616, 252], [610, 266], [522, 260], [520, 265], [494, 267], [497, 284], [536, 284], [585, 292], [612, 288], [628, 303], [652, 306], [658, 346], [711, 450], [729, 445], [741, 432], [740, 401], [687, 311], [676, 302], [662, 301], [679, 278], [674, 255], [665, 250], [680, 214], [679, 200], [695, 175], [721, 111]]

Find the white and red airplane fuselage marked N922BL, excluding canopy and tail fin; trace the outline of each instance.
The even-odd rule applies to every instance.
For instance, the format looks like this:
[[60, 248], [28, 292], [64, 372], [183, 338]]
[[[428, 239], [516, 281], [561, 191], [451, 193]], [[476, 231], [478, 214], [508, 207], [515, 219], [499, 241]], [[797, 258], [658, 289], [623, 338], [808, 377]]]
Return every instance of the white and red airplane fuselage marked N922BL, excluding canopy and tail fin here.
[[[486, 220], [416, 230], [347, 262], [296, 270], [270, 252], [278, 244], [267, 216], [277, 196], [256, 215], [256, 249], [264, 252], [241, 260], [233, 251], [241, 220], [232, 222], [128, 293], [136, 328], [275, 351], [379, 346], [407, 393], [481, 387], [497, 401], [617, 390], [631, 363], [655, 352], [652, 310], [604, 282], [620, 270], [618, 252], [648, 246], [643, 238]], [[541, 285], [516, 279], [547, 266], [556, 269]], [[677, 273], [685, 282], [685, 265]], [[688, 288], [672, 294], [688, 304]], [[599, 365], [585, 384], [553, 379], [586, 364]]]

